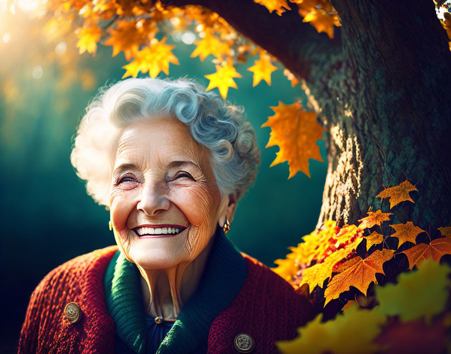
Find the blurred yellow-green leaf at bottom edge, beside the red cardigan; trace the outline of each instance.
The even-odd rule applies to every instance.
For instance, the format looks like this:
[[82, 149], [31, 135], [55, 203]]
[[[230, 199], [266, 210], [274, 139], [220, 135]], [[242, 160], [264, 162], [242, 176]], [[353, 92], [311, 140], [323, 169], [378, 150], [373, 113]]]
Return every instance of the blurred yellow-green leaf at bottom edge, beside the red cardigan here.
[[373, 339], [381, 332], [386, 316], [351, 306], [334, 319], [322, 322], [321, 314], [297, 329], [292, 340], [276, 341], [283, 354], [372, 354], [379, 349]]

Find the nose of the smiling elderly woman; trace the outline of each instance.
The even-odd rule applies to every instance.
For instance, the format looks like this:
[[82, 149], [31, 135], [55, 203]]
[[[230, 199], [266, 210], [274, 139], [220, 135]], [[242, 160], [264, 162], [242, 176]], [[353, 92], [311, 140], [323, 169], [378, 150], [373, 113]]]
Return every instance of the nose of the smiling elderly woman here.
[[136, 208], [146, 215], [152, 216], [159, 211], [168, 210], [171, 202], [166, 196], [164, 186], [160, 184], [144, 183]]

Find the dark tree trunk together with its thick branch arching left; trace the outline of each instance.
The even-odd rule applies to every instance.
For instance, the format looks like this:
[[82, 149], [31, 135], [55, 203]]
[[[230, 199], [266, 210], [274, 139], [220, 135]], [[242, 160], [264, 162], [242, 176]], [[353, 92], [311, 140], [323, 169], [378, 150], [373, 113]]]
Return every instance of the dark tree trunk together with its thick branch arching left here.
[[318, 227], [356, 223], [375, 198], [403, 182], [415, 204], [391, 212], [393, 223], [451, 224], [451, 52], [431, 1], [332, 0], [342, 27], [336, 39], [303, 23], [295, 5], [282, 16], [251, 0], [173, 0], [201, 5], [277, 57], [302, 80], [326, 127], [328, 173]]

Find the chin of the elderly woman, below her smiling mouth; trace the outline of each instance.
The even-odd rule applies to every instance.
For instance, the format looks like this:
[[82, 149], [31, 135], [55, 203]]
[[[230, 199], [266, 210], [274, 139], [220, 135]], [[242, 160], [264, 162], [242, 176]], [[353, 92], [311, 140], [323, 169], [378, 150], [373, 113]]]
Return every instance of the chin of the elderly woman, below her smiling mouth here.
[[136, 238], [129, 258], [144, 269], [168, 269], [189, 259], [185, 237]]

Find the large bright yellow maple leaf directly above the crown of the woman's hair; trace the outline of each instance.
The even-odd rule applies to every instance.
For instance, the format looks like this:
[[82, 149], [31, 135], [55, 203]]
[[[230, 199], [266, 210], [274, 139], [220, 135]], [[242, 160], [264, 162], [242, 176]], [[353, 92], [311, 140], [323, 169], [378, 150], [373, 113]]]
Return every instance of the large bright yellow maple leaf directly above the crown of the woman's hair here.
[[143, 48], [136, 53], [136, 58], [132, 62], [122, 66], [127, 71], [122, 76], [136, 77], [138, 71], [149, 72], [149, 76], [155, 78], [163, 71], [165, 74], [169, 74], [169, 63], [179, 65], [179, 60], [172, 53], [174, 45], [165, 44], [166, 37], [161, 41], [154, 38], [150, 47]]

